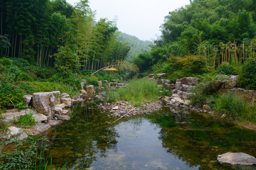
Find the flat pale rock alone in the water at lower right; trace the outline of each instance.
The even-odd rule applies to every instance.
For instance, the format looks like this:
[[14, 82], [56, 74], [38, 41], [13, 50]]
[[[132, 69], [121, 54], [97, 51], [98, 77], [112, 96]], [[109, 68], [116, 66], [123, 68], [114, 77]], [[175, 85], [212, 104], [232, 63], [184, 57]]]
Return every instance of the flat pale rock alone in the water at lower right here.
[[256, 158], [246, 153], [224, 153], [218, 155], [219, 163], [230, 165], [253, 165], [256, 164]]

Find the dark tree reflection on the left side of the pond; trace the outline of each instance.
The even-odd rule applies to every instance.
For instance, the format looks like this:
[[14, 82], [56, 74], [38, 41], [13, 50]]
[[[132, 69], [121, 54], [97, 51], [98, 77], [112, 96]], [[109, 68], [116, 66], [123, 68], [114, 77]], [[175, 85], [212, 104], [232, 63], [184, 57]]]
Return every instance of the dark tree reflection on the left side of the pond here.
[[72, 119], [58, 129], [59, 137], [69, 139], [55, 141], [55, 144], [61, 142], [61, 147], [72, 148], [73, 154], [68, 164], [74, 166], [73, 169], [80, 169], [84, 162], [83, 167], [90, 166], [96, 161], [97, 153], [104, 157], [109, 149], [117, 150], [116, 137], [119, 135], [114, 127], [108, 126], [106, 121], [111, 121], [109, 119], [93, 103], [73, 108]]

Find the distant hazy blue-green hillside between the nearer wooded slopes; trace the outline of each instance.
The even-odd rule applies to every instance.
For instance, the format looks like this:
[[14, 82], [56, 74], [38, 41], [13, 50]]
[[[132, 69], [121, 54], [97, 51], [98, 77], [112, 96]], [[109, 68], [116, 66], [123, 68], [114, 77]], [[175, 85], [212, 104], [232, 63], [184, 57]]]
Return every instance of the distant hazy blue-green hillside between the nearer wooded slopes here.
[[136, 36], [125, 34], [120, 32], [118, 37], [120, 42], [128, 42], [128, 46], [131, 48], [128, 52], [128, 61], [132, 61], [133, 58], [137, 56], [137, 54], [143, 51], [150, 51], [149, 45], [153, 43], [150, 41], [142, 41], [139, 40]]

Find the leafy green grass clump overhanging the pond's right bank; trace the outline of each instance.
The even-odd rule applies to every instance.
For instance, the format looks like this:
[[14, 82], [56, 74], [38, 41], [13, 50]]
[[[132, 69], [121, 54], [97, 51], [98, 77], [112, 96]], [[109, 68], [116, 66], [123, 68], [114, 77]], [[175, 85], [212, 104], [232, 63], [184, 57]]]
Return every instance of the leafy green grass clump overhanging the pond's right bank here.
[[214, 111], [217, 114], [226, 114], [228, 119], [238, 121], [249, 120], [256, 122], [256, 110], [241, 96], [222, 94], [216, 99]]

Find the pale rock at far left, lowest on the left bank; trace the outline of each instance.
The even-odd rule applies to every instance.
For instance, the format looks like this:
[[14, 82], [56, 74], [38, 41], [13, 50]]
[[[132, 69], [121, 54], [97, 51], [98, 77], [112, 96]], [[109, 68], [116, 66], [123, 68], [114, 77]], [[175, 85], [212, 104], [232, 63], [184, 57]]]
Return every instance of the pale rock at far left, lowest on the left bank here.
[[14, 138], [18, 140], [24, 140], [27, 139], [27, 134], [18, 127], [8, 127], [9, 133], [6, 136], [3, 136], [4, 138], [7, 138], [9, 140], [12, 140]]

